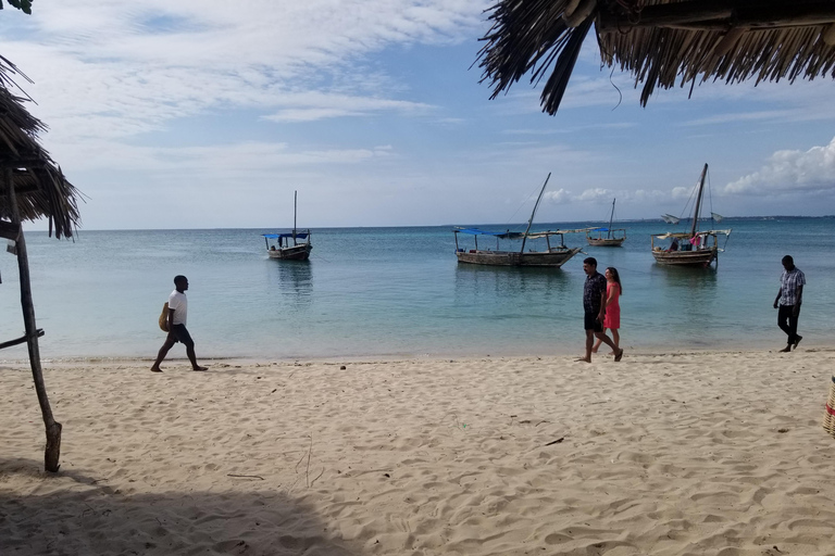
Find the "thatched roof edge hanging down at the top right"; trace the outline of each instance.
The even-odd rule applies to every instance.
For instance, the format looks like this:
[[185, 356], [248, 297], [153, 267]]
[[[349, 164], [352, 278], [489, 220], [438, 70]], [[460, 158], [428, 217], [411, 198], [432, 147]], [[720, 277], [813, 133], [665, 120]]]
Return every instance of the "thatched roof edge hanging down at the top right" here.
[[645, 106], [676, 83], [835, 77], [833, 0], [498, 0], [489, 20], [479, 61], [491, 98], [531, 73], [547, 78], [549, 114], [593, 25], [602, 64], [644, 84]]

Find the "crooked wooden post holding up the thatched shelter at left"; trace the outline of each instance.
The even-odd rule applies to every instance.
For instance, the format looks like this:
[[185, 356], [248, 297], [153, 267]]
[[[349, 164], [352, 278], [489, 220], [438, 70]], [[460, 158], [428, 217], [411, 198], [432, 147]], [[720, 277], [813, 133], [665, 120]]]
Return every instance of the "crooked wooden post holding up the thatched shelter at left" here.
[[[21, 225], [21, 215], [17, 210], [17, 200], [14, 192], [12, 168], [3, 168], [3, 182], [9, 191], [9, 208], [12, 215], [12, 224]], [[61, 456], [61, 424], [52, 417], [52, 408], [49, 406], [47, 387], [43, 382], [43, 371], [40, 368], [40, 350], [38, 349], [38, 328], [35, 324], [35, 305], [32, 302], [32, 282], [29, 279], [29, 258], [26, 254], [26, 241], [23, 237], [23, 228], [16, 240], [17, 268], [21, 273], [21, 307], [23, 308], [23, 321], [26, 326], [26, 343], [29, 348], [29, 364], [32, 377], [35, 380], [35, 391], [38, 394], [40, 413], [43, 415], [43, 425], [47, 429], [47, 448], [43, 453], [43, 467], [47, 471], [57, 472], [61, 465], [58, 463]]]

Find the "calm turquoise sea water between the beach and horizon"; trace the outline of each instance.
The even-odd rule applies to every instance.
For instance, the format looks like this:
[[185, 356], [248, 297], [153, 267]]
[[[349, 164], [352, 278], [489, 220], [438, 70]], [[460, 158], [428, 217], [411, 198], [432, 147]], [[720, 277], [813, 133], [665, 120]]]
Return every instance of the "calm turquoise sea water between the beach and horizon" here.
[[[601, 271], [621, 273], [627, 350], [782, 348], [772, 303], [785, 254], [808, 281], [801, 345], [830, 345], [835, 218], [726, 218], [720, 227], [733, 232], [716, 269], [659, 266], [649, 236], [673, 227], [622, 226], [622, 248], [584, 251]], [[266, 229], [80, 230], [75, 241], [27, 232], [41, 354], [153, 357], [164, 339], [157, 318], [177, 274], [190, 281], [188, 327], [200, 358], [582, 353], [585, 255], [561, 269], [459, 265], [451, 230], [314, 229], [307, 263], [270, 260], [260, 235], [275, 230]], [[0, 253], [0, 275], [3, 341], [23, 333], [15, 257]], [[25, 345], [0, 352], [0, 361], [25, 357]]]

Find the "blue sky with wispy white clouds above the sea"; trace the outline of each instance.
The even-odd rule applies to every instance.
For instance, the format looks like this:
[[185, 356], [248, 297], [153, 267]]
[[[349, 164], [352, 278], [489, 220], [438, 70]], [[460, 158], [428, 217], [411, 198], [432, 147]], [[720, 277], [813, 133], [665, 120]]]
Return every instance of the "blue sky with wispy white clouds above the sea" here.
[[[82, 229], [835, 214], [835, 83], [657, 91], [594, 33], [554, 116], [490, 100], [483, 0], [75, 0], [0, 11], [2, 50], [84, 194]], [[46, 223], [27, 225], [46, 229]]]

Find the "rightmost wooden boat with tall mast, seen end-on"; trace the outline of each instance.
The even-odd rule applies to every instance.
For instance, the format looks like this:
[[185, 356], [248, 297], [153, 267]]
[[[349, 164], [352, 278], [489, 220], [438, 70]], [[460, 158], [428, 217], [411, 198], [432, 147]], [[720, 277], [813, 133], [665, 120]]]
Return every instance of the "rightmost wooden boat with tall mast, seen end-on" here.
[[[652, 236], [651, 247], [652, 256], [656, 262], [662, 265], [677, 266], [702, 266], [708, 267], [713, 261], [718, 261], [719, 249], [718, 236], [724, 235], [727, 238], [731, 230], [706, 230], [700, 231], [699, 212], [701, 210], [701, 199], [705, 192], [705, 177], [708, 174], [708, 165], [701, 170], [701, 177], [697, 185], [696, 207], [693, 213], [693, 226], [689, 232], [666, 232]], [[656, 245], [656, 240], [671, 240], [668, 248]], [[727, 239], [725, 239], [727, 242]], [[719, 263], [716, 263], [719, 264]]]

